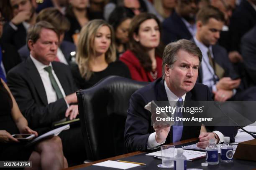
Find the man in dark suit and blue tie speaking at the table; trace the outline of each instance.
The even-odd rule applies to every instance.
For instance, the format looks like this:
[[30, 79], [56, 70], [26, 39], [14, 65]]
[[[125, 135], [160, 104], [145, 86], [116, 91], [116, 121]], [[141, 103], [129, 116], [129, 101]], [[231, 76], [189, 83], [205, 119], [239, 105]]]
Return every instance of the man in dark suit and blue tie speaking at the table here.
[[205, 148], [211, 138], [223, 141], [224, 135], [234, 140], [237, 130], [220, 126], [151, 125], [151, 113], [144, 106], [155, 101], [197, 101], [211, 100], [208, 87], [196, 83], [198, 68], [202, 60], [200, 49], [189, 40], [179, 40], [168, 44], [163, 54], [163, 78], [136, 91], [130, 99], [125, 124], [125, 145], [128, 151], [156, 149], [163, 143], [198, 137], [198, 147]]

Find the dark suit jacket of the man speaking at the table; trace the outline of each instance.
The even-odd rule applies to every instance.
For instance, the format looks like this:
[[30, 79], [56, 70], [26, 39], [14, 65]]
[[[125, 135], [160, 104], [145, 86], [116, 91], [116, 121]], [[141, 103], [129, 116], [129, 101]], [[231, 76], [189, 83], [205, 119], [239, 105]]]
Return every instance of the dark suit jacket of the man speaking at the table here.
[[[147, 150], [148, 136], [154, 132], [151, 126], [151, 113], [144, 109], [144, 106], [155, 101], [168, 101], [166, 95], [164, 80], [158, 80], [137, 90], [130, 98], [130, 106], [125, 124], [125, 146], [129, 152], [135, 150]], [[207, 101], [211, 100], [211, 94], [206, 85], [196, 83], [195, 87], [187, 92], [185, 101]], [[181, 140], [198, 137], [200, 126], [184, 126]], [[218, 130], [234, 140], [237, 130], [234, 127], [223, 128], [221, 126], [208, 127], [209, 130]], [[172, 142], [172, 127], [166, 143]]]

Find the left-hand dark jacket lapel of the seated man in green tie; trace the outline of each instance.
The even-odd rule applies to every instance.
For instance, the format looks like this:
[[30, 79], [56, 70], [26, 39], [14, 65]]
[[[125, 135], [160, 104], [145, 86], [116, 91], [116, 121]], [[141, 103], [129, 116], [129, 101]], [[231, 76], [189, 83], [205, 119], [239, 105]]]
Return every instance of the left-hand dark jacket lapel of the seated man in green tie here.
[[36, 69], [35, 64], [33, 63], [30, 57], [28, 57], [26, 60], [26, 68], [28, 69], [28, 75], [31, 77], [31, 81], [36, 87], [36, 91], [38, 93], [39, 98], [41, 98], [44, 105], [48, 105], [44, 84], [42, 82], [38, 70]]

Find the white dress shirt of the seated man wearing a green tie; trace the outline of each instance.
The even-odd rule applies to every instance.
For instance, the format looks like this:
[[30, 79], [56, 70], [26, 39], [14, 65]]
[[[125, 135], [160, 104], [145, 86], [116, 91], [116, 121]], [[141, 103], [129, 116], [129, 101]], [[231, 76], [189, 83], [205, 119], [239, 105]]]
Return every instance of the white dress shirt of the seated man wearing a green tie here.
[[[39, 75], [41, 77], [41, 80], [44, 84], [44, 89], [45, 89], [45, 92], [46, 92], [48, 104], [51, 103], [51, 102], [55, 102], [57, 100], [56, 92], [55, 92], [54, 88], [51, 85], [51, 80], [49, 78], [49, 73], [46, 70], [44, 70], [45, 67], [48, 67], [48, 66], [52, 67], [51, 63], [50, 63], [50, 65], [44, 65], [43, 63], [36, 60], [32, 55], [30, 55], [30, 57], [31, 57], [31, 60], [33, 61], [33, 63], [36, 65], [36, 69], [38, 70]], [[56, 80], [56, 82], [57, 82], [57, 84], [58, 84], [58, 86], [61, 90], [61, 93], [62, 93], [63, 97], [66, 97], [66, 94], [65, 94], [65, 92], [64, 92], [64, 90], [61, 86], [61, 83], [59, 82], [59, 79], [56, 76], [53, 69], [52, 69], [52, 74], [54, 75], [54, 78], [55, 78], [55, 80]]]

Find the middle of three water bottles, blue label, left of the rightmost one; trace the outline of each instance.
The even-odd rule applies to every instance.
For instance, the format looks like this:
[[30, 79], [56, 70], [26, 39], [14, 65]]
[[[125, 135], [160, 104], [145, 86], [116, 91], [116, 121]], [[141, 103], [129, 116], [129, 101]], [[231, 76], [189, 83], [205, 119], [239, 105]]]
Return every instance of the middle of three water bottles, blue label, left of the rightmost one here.
[[218, 147], [215, 144], [215, 139], [210, 139], [210, 144], [205, 148], [206, 150], [206, 163], [209, 165], [219, 164]]

